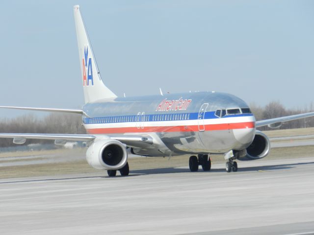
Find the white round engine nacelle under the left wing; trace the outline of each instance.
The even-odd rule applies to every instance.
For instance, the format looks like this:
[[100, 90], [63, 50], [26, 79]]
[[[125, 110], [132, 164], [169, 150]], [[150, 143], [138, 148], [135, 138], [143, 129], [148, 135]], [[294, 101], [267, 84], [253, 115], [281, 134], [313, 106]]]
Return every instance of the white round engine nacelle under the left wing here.
[[120, 141], [101, 139], [88, 147], [86, 160], [90, 166], [99, 170], [117, 170], [127, 164], [128, 153]]

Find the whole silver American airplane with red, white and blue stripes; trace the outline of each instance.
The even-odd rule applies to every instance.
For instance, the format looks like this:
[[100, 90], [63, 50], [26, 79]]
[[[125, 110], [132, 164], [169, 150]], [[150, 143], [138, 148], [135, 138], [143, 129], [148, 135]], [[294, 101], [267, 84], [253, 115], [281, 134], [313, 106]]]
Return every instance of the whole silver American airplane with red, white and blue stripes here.
[[129, 175], [128, 154], [147, 157], [191, 155], [190, 171], [211, 168], [211, 155], [224, 154], [226, 171], [237, 171], [235, 160], [258, 160], [270, 150], [257, 127], [280, 127], [283, 122], [314, 116], [314, 112], [256, 121], [249, 106], [233, 94], [189, 92], [117, 97], [105, 86], [98, 69], [80, 8], [74, 6], [81, 81], [81, 109], [0, 106], [0, 108], [78, 114], [88, 134], [1, 133], [16, 144], [26, 139], [86, 141], [86, 160], [109, 176]]

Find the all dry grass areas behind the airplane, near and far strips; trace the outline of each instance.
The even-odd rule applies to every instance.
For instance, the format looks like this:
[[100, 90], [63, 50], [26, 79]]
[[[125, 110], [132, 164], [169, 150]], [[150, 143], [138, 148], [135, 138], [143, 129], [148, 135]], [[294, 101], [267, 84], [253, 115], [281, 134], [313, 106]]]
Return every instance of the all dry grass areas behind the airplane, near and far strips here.
[[[284, 137], [284, 136], [298, 136], [298, 135], [312, 135], [314, 128], [294, 129], [294, 130], [275, 130], [265, 132], [270, 137]], [[86, 148], [78, 149], [58, 149], [49, 151], [34, 151], [34, 152], [11, 152], [0, 153], [0, 157], [23, 157], [23, 156], [40, 156], [40, 155], [56, 155], [60, 154], [65, 158], [71, 156], [84, 156]], [[149, 158], [149, 157], [135, 157], [129, 158], [130, 169], [150, 169], [150, 168], [164, 168], [164, 167], [179, 167], [188, 166], [188, 159], [190, 155], [175, 156], [169, 158]], [[286, 158], [300, 158], [300, 157], [314, 157], [314, 145], [296, 146], [285, 148], [274, 148], [270, 154], [261, 160], [265, 161], [271, 159], [286, 159]], [[73, 158], [72, 158], [73, 159]], [[81, 158], [80, 158], [81, 159]], [[15, 161], [15, 160], [11, 160]], [[223, 155], [212, 155], [212, 164], [224, 163]], [[240, 162], [239, 162], [240, 166]], [[5, 178], [19, 178], [31, 176], [52, 176], [65, 174], [84, 174], [94, 173], [95, 176], [106, 175], [106, 171], [96, 170], [89, 166], [85, 160], [69, 161], [62, 163], [49, 164], [30, 164], [18, 166], [0, 167], [0, 179]]]

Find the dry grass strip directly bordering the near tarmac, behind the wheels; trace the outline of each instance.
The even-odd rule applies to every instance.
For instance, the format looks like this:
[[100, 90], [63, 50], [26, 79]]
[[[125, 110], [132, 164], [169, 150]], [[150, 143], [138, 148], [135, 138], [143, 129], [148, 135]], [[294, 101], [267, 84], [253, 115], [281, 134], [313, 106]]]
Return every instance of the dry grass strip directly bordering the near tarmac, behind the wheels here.
[[[300, 157], [314, 157], [314, 146], [297, 146], [286, 148], [274, 148], [271, 153], [264, 159], [288, 159]], [[165, 167], [188, 166], [189, 155], [175, 156], [168, 158], [130, 158], [130, 169], [151, 169]], [[223, 155], [212, 155], [212, 164], [224, 163]], [[89, 166], [85, 160], [54, 163], [54, 164], [32, 164], [23, 166], [1, 167], [0, 179], [34, 177], [34, 176], [53, 176], [66, 174], [85, 174], [94, 173], [94, 175], [106, 175], [106, 171], [96, 170]]]

